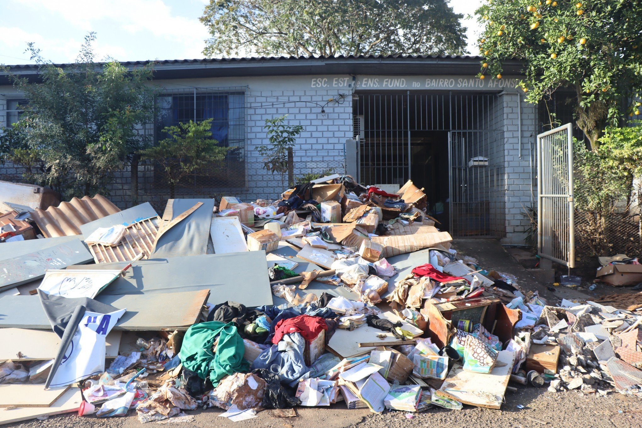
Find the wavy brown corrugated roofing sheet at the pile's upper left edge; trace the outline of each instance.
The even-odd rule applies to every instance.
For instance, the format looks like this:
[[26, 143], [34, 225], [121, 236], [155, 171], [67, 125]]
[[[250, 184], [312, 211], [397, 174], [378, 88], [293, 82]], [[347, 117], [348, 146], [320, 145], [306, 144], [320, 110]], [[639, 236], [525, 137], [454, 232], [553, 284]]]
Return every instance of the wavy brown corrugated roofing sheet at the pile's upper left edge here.
[[37, 208], [31, 213], [31, 218], [42, 234], [49, 238], [80, 235], [80, 225], [119, 211], [120, 209], [105, 196], [97, 194], [93, 198], [73, 198], [69, 202], [61, 202], [58, 207], [49, 207], [46, 210]]

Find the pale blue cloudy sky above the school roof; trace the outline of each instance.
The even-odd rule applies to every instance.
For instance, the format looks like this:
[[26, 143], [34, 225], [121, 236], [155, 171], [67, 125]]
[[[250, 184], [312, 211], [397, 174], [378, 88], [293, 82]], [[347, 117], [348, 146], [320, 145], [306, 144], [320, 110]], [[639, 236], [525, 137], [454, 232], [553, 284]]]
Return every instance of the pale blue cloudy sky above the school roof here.
[[[0, 64], [31, 64], [27, 42], [53, 62], [73, 62], [83, 37], [96, 31], [98, 59], [203, 58], [209, 33], [198, 21], [208, 0], [0, 0]], [[472, 13], [478, 0], [452, 0]], [[478, 31], [469, 27], [469, 46]], [[471, 47], [472, 48], [472, 47]], [[474, 52], [476, 53], [476, 52]]]

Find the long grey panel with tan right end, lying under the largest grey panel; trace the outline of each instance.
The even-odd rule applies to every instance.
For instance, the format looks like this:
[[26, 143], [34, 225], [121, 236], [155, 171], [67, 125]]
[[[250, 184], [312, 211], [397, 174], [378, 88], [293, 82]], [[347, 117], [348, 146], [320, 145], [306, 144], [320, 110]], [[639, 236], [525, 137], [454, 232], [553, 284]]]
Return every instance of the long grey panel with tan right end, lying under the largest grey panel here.
[[[127, 311], [114, 330], [186, 330], [198, 321], [207, 291], [186, 291], [166, 295], [96, 296], [101, 303]], [[0, 298], [0, 328], [51, 330], [39, 296]]]

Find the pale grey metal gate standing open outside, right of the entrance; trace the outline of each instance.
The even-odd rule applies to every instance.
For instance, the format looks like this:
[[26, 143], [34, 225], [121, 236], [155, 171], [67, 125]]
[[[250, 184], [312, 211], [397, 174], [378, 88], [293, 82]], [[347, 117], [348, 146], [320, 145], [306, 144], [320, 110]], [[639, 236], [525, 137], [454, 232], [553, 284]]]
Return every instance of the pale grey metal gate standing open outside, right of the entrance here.
[[575, 267], [573, 127], [537, 135], [537, 253]]

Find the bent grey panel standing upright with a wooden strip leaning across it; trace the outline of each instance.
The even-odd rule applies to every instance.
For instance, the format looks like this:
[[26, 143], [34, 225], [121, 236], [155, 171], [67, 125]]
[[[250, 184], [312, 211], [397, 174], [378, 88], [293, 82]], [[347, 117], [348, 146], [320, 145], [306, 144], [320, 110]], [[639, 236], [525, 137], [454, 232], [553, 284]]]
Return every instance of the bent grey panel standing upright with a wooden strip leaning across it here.
[[175, 199], [171, 205], [171, 219], [177, 218], [198, 202], [202, 202], [203, 205], [160, 235], [156, 250], [150, 255], [150, 259], [207, 253], [214, 212], [213, 199]]

